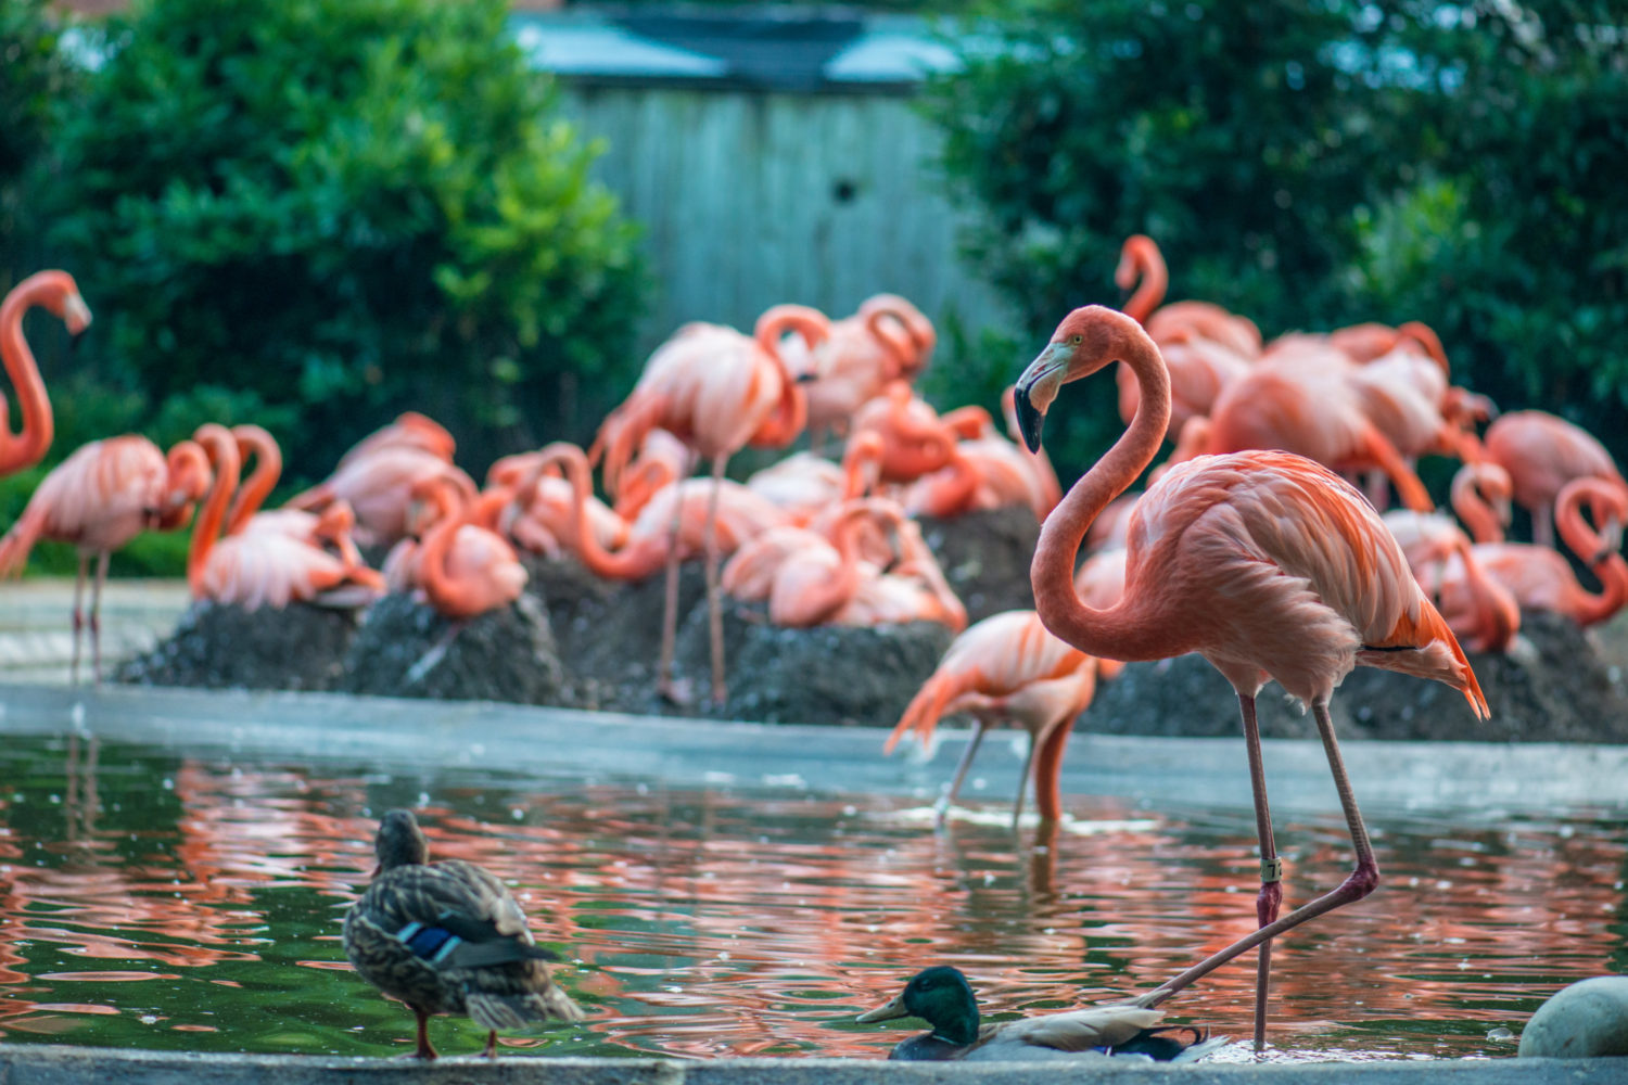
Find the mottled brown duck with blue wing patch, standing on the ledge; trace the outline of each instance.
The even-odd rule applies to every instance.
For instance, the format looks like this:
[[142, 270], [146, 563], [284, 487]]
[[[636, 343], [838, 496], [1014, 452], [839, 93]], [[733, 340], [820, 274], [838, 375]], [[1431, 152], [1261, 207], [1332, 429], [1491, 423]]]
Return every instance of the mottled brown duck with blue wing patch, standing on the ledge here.
[[409, 810], [389, 810], [373, 843], [379, 865], [345, 913], [345, 956], [361, 978], [418, 1018], [420, 1059], [433, 1059], [431, 1013], [466, 1013], [488, 1030], [581, 1020], [583, 1010], [549, 976], [554, 953], [532, 943], [526, 914], [503, 883], [461, 859], [430, 862], [430, 843]]

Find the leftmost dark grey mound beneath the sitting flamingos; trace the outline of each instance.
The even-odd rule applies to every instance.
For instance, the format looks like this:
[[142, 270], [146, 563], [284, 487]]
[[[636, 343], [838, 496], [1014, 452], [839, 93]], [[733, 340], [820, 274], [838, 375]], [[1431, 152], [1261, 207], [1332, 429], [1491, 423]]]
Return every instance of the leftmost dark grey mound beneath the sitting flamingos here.
[[353, 610], [309, 604], [244, 610], [234, 604], [197, 602], [153, 651], [122, 664], [114, 682], [205, 690], [332, 690], [357, 626]]

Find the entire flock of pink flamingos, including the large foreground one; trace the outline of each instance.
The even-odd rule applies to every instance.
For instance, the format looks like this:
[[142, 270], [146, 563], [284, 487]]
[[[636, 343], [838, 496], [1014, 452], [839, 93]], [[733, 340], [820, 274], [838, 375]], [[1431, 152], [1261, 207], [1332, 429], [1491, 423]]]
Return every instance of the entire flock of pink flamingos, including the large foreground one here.
[[[246, 608], [365, 607], [384, 592], [417, 592], [462, 621], [524, 590], [516, 548], [573, 558], [610, 579], [664, 571], [658, 673], [663, 691], [684, 699], [692, 695], [672, 678], [677, 568], [702, 558], [716, 701], [723, 595], [760, 602], [786, 626], [938, 621], [959, 634], [887, 743], [907, 732], [926, 740], [951, 712], [975, 719], [939, 817], [985, 727], [1017, 724], [1031, 734], [1032, 765], [1016, 808], [1032, 779], [1040, 815], [1058, 818], [1063, 745], [1096, 682], [1123, 662], [1198, 652], [1241, 704], [1262, 854], [1260, 929], [1138, 1002], [1154, 1007], [1260, 947], [1258, 1044], [1271, 939], [1361, 900], [1379, 880], [1328, 717], [1333, 688], [1356, 665], [1379, 667], [1442, 682], [1485, 716], [1460, 639], [1506, 651], [1522, 607], [1592, 623], [1628, 600], [1618, 555], [1628, 483], [1597, 441], [1553, 415], [1504, 413], [1478, 434], [1493, 405], [1451, 384], [1442, 346], [1423, 324], [1263, 343], [1249, 319], [1218, 306], [1161, 306], [1166, 267], [1141, 236], [1125, 242], [1118, 281], [1135, 286], [1123, 312], [1076, 309], [1008, 389], [1011, 439], [983, 408], [939, 415], [912, 390], [934, 332], [908, 301], [877, 294], [840, 320], [775, 306], [752, 335], [684, 325], [651, 355], [589, 449], [554, 442], [506, 457], [484, 488], [453, 464], [446, 429], [418, 413], [371, 434], [327, 480], [272, 511], [260, 506], [282, 462], [257, 426], [205, 425], [168, 454], [138, 436], [91, 442], [46, 477], [0, 540], [0, 573], [18, 569], [37, 538], [80, 548], [77, 665], [80, 595], [96, 556], [88, 623], [99, 670], [96, 600], [107, 553], [138, 530], [189, 521], [192, 592]], [[29, 306], [73, 333], [90, 324], [62, 272], [41, 272], [7, 296], [0, 346], [23, 423], [16, 434], [0, 429], [3, 472], [37, 462], [52, 436], [21, 333]], [[1040, 451], [1040, 423], [1061, 384], [1115, 361], [1128, 428], [1065, 496]], [[804, 433], [814, 447], [842, 441], [840, 462], [804, 451], [744, 481], [726, 477], [744, 449], [785, 449]], [[1148, 490], [1127, 495], [1167, 436], [1174, 452]], [[1424, 454], [1464, 460], [1451, 493], [1464, 527], [1434, 511], [1413, 468]], [[244, 480], [247, 460], [254, 470]], [[710, 477], [690, 477], [698, 460]], [[606, 501], [594, 495], [594, 468]], [[1389, 486], [1407, 508], [1381, 516]], [[1530, 511], [1537, 542], [1504, 538], [1511, 503]], [[1035, 608], [967, 628], [917, 517], [1003, 506], [1044, 521]], [[1599, 577], [1599, 592], [1550, 545], [1555, 529]], [[374, 547], [389, 547], [379, 569], [361, 556]], [[1255, 726], [1255, 696], [1268, 680], [1311, 706], [1356, 852], [1346, 882], [1281, 917], [1283, 862]]]

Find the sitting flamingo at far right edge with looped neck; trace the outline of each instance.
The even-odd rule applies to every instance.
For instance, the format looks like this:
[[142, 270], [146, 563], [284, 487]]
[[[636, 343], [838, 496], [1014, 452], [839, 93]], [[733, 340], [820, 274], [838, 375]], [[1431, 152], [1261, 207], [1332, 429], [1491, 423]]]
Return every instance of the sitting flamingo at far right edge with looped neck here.
[[[1584, 522], [1584, 504], [1589, 504], [1595, 522], [1605, 525], [1605, 540]], [[1604, 478], [1573, 478], [1560, 491], [1555, 508], [1560, 537], [1599, 577], [1600, 592], [1582, 587], [1571, 563], [1548, 547], [1477, 543], [1470, 553], [1527, 610], [1563, 613], [1581, 626], [1605, 621], [1628, 602], [1628, 563], [1617, 553], [1621, 525], [1628, 521], [1628, 493]], [[1442, 610], [1464, 590], [1462, 579], [1462, 568], [1449, 566], [1444, 573]]]

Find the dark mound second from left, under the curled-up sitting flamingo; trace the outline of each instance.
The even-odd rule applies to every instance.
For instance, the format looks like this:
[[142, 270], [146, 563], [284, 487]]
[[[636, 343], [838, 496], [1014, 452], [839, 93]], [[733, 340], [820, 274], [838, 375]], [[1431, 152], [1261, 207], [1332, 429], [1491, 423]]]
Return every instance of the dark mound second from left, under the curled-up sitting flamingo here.
[[457, 628], [410, 595], [386, 595], [344, 659], [345, 693], [557, 704], [563, 678], [549, 615], [531, 595]]

